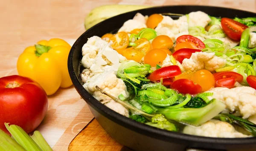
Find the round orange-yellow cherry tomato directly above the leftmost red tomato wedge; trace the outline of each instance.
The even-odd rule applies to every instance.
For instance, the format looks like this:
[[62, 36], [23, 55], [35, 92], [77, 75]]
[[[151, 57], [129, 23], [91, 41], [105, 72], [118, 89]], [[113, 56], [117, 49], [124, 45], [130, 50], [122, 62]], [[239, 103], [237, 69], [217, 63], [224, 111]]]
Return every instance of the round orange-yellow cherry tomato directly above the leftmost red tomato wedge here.
[[144, 57], [145, 64], [150, 64], [150, 66], [155, 67], [157, 64], [162, 64], [163, 60], [166, 58], [167, 53], [162, 49], [151, 49]]

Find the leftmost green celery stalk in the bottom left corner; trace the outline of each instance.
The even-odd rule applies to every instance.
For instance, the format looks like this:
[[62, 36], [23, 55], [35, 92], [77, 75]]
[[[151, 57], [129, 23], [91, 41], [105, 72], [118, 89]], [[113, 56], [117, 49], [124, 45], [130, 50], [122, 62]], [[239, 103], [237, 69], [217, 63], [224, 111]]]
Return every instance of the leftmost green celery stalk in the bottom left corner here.
[[0, 129], [0, 151], [26, 151], [8, 134]]

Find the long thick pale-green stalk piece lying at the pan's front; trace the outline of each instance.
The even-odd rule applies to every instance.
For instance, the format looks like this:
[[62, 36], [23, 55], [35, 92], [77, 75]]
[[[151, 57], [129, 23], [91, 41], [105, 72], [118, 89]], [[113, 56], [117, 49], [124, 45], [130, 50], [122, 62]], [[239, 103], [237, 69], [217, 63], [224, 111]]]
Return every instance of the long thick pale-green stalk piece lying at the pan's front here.
[[157, 110], [157, 113], [164, 114], [168, 120], [198, 126], [217, 116], [225, 108], [224, 103], [213, 99], [202, 108], [166, 108]]

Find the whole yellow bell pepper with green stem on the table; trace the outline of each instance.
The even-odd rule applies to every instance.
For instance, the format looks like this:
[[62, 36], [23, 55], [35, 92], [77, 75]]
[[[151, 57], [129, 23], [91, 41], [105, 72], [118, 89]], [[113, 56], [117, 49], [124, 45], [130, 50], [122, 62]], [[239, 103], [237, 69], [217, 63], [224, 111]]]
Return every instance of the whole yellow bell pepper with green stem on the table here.
[[41, 40], [23, 51], [17, 61], [17, 71], [38, 82], [47, 95], [54, 94], [59, 87], [72, 85], [67, 69], [70, 48], [66, 41], [58, 38]]

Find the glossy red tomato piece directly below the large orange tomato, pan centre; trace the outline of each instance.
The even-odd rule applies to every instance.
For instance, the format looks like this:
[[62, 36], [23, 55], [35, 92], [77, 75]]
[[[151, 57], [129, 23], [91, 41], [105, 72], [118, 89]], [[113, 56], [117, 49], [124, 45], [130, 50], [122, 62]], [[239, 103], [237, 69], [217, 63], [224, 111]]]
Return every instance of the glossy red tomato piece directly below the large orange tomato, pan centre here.
[[189, 79], [179, 79], [174, 81], [172, 83], [172, 88], [183, 94], [198, 94], [202, 92], [202, 87]]

